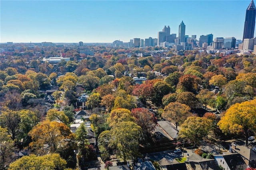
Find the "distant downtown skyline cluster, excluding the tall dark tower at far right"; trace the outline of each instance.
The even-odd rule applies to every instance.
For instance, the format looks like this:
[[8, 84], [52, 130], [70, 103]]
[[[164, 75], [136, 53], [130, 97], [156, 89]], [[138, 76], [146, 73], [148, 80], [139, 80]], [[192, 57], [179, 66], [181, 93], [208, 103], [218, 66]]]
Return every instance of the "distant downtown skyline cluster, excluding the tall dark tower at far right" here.
[[172, 33], [170, 26], [164, 26], [163, 30], [158, 32], [157, 38], [133, 38], [130, 42], [122, 42], [115, 40], [113, 45], [116, 47], [172, 47], [175, 51], [179, 50], [192, 50], [194, 47], [201, 47], [203, 49], [232, 49], [236, 47], [236, 38], [215, 38], [213, 34], [201, 35], [199, 40], [196, 35], [189, 37], [185, 34], [186, 25], [182, 21], [179, 25], [178, 36]]

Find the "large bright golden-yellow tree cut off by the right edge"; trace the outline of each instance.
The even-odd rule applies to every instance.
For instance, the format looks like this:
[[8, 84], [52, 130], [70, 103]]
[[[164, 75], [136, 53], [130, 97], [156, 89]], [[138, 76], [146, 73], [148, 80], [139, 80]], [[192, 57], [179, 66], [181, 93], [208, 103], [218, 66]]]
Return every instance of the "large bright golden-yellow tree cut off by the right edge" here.
[[222, 132], [244, 133], [248, 145], [249, 130], [256, 130], [256, 99], [232, 105], [220, 119], [218, 126]]

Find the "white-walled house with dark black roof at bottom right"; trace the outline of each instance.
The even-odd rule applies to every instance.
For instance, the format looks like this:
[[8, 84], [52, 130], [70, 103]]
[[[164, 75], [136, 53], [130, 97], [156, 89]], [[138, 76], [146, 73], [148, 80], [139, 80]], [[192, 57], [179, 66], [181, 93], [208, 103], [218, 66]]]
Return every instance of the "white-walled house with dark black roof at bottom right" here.
[[222, 154], [214, 155], [214, 159], [219, 166], [225, 170], [236, 170], [240, 168], [246, 169], [247, 165], [240, 154]]

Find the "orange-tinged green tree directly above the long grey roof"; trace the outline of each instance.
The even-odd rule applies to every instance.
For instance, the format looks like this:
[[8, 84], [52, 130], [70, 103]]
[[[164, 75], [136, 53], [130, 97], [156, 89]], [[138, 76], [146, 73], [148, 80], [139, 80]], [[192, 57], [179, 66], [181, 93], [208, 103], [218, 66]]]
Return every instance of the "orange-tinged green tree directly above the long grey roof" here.
[[162, 113], [162, 117], [173, 122], [176, 125], [176, 129], [178, 128], [178, 125], [184, 123], [184, 121], [190, 116], [192, 116], [192, 113], [190, 113], [190, 107], [178, 102], [169, 103], [164, 107], [164, 113]]

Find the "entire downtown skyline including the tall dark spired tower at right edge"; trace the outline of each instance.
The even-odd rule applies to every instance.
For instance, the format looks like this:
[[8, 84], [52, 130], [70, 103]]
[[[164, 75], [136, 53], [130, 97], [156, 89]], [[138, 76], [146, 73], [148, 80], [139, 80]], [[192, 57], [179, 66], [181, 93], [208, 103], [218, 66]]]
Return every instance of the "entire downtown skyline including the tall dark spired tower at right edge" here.
[[175, 51], [192, 50], [194, 48], [206, 50], [234, 49], [236, 47], [243, 51], [254, 50], [256, 48], [256, 38], [254, 38], [255, 16], [256, 7], [252, 0], [246, 9], [243, 40], [236, 41], [235, 37], [213, 38], [213, 34], [201, 35], [197, 40], [196, 35], [189, 37], [185, 34], [186, 25], [182, 21], [179, 25], [178, 36], [174, 33], [171, 34], [170, 26], [164, 26], [163, 30], [158, 32], [157, 38], [134, 38], [130, 42], [115, 40], [113, 45], [116, 47], [171, 47]]

